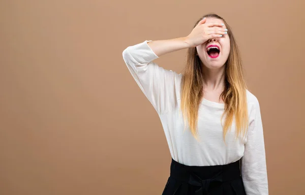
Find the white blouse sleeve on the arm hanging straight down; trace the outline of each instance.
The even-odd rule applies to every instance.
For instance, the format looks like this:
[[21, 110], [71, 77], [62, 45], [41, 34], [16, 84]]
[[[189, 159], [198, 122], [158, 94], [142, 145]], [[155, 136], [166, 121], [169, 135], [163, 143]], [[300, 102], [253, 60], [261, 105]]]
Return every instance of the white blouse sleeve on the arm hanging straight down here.
[[247, 143], [241, 159], [242, 180], [247, 195], [267, 195], [268, 179], [263, 125], [259, 102], [256, 98], [249, 116]]

